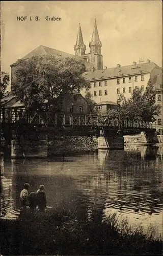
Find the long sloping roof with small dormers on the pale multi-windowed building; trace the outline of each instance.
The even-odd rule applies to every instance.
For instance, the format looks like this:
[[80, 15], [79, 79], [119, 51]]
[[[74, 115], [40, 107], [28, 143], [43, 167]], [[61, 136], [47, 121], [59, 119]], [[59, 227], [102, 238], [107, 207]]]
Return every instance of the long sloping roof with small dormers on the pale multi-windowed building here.
[[145, 74], [151, 72], [154, 68], [159, 68], [154, 62], [138, 63], [136, 65], [123, 66], [117, 68], [95, 70], [93, 72], [85, 72], [83, 76], [88, 80], [103, 80], [108, 78], [125, 77], [130, 75]]

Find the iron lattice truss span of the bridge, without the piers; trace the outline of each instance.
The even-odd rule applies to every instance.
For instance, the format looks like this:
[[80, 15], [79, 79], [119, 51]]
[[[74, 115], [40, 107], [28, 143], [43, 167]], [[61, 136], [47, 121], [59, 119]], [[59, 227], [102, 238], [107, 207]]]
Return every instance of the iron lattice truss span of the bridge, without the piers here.
[[18, 124], [30, 124], [36, 127], [50, 127], [58, 129], [80, 129], [88, 128], [93, 130], [153, 130], [161, 132], [162, 126], [156, 125], [151, 122], [134, 121], [124, 118], [110, 119], [108, 116], [91, 115], [91, 114], [65, 114], [65, 113], [53, 113], [39, 110], [25, 110], [17, 108], [0, 108], [0, 121], [1, 125], [16, 127]]

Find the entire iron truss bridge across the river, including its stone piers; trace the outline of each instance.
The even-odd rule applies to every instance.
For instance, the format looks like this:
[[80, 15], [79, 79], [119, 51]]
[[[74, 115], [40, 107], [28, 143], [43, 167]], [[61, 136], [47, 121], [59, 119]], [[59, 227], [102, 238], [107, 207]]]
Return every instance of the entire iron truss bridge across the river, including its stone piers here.
[[[91, 145], [98, 144], [95, 146], [97, 148], [115, 149], [124, 148], [124, 135], [141, 134], [140, 142], [143, 138], [143, 142], [147, 144], [158, 142], [156, 133], [162, 136], [161, 125], [123, 118], [110, 119], [102, 115], [0, 108], [0, 117], [1, 131], [6, 139], [10, 137], [13, 157], [28, 155], [29, 153], [26, 152], [34, 152], [36, 148], [40, 151], [43, 148], [43, 155], [47, 155], [48, 142], [60, 141], [63, 137], [64, 148], [67, 140], [72, 147], [80, 141], [78, 148], [82, 146], [88, 148], [89, 141], [92, 141]], [[71, 139], [67, 139], [68, 137]], [[97, 143], [93, 142], [94, 138], [98, 140]], [[74, 144], [71, 143], [73, 139]], [[61, 147], [61, 143], [59, 144]], [[25, 148], [29, 149], [25, 150]], [[34, 153], [31, 154], [33, 156]]]

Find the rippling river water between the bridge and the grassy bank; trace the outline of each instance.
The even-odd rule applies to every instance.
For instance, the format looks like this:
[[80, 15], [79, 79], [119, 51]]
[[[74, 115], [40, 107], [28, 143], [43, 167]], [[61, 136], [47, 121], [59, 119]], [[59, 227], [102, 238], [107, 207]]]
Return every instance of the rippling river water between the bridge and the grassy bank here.
[[117, 213], [129, 224], [162, 233], [163, 147], [127, 147], [50, 159], [4, 159], [1, 156], [1, 217], [15, 218], [25, 182], [29, 192], [45, 185], [47, 205], [70, 211], [94, 209], [102, 217]]

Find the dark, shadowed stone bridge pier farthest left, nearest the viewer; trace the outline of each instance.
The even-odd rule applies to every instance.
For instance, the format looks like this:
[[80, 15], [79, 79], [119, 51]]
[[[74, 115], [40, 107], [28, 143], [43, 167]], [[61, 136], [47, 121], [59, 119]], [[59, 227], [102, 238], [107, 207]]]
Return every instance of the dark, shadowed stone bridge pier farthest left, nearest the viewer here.
[[31, 133], [17, 137], [13, 132], [11, 141], [11, 158], [47, 157], [47, 135]]

